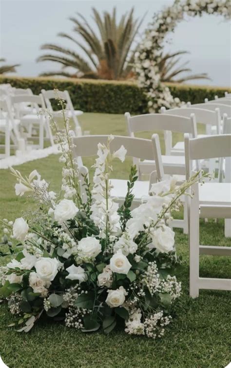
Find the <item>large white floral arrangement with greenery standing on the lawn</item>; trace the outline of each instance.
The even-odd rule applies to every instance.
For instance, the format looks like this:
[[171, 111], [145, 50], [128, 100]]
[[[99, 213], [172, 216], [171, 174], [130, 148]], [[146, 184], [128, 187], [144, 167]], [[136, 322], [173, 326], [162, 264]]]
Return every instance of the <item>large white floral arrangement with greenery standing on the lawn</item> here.
[[73, 131], [63, 116], [63, 131], [54, 123], [63, 162], [60, 193], [50, 191], [36, 170], [23, 177], [11, 169], [16, 195], [32, 196], [38, 205], [14, 222], [2, 220], [8, 251], [1, 256], [10, 254], [12, 260], [0, 267], [0, 296], [15, 316], [10, 326], [28, 332], [39, 318], [51, 318], [83, 332], [101, 328], [108, 334], [122, 325], [128, 334], [161, 337], [181, 292], [173, 276], [178, 260], [171, 211], [179, 209], [180, 197], [199, 173], [178, 187], [173, 181], [153, 184], [150, 195], [132, 209], [137, 179], [132, 167], [119, 206], [109, 177], [113, 161], [123, 162], [126, 150], [110, 152], [111, 136], [107, 145], [98, 144], [92, 188], [83, 177], [84, 201]]

